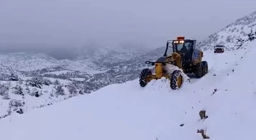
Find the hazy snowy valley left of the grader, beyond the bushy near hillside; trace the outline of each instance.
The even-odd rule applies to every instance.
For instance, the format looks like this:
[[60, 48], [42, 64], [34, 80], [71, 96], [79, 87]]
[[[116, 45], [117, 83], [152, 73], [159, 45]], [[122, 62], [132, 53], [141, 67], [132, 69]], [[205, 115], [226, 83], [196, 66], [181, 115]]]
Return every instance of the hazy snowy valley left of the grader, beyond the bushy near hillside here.
[[0, 53], [0, 79], [6, 79], [13, 73], [19, 77], [78, 80], [93, 84], [88, 86], [96, 90], [108, 84], [135, 79], [145, 66], [144, 60], [157, 58], [163, 49], [136, 53], [109, 49], [99, 53], [96, 49], [97, 54], [79, 56], [79, 60], [58, 60], [42, 53]]

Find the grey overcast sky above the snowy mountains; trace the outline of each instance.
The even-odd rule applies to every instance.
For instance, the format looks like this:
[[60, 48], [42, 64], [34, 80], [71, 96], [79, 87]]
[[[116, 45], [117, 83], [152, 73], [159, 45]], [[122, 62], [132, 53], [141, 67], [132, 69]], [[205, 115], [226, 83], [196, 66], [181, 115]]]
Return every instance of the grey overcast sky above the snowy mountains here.
[[0, 0], [0, 47], [165, 45], [201, 40], [255, 9], [256, 0]]

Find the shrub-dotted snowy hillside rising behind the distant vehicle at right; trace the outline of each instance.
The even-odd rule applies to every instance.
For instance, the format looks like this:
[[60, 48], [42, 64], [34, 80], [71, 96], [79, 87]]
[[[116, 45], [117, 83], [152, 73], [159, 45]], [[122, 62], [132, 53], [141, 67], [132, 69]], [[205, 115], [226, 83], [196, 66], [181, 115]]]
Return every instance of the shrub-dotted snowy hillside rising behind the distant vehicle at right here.
[[227, 50], [233, 50], [256, 37], [256, 11], [238, 18], [218, 32], [210, 34], [199, 42], [197, 47], [202, 50], [213, 49], [214, 45], [225, 45]]

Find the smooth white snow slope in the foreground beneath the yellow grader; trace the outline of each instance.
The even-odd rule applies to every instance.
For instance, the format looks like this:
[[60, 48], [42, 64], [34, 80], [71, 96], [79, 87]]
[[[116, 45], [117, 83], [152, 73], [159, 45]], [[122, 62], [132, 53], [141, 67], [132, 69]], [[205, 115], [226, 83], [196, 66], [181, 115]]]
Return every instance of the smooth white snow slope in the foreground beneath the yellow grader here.
[[[164, 78], [144, 88], [136, 79], [22, 115], [13, 113], [0, 119], [1, 137], [197, 140], [202, 139], [197, 129], [203, 129], [214, 140], [252, 139], [256, 136], [256, 79], [251, 74], [255, 45], [252, 41], [246, 49], [219, 54], [205, 51], [209, 72], [180, 90], [171, 90]], [[200, 110], [208, 116], [204, 121]]]

